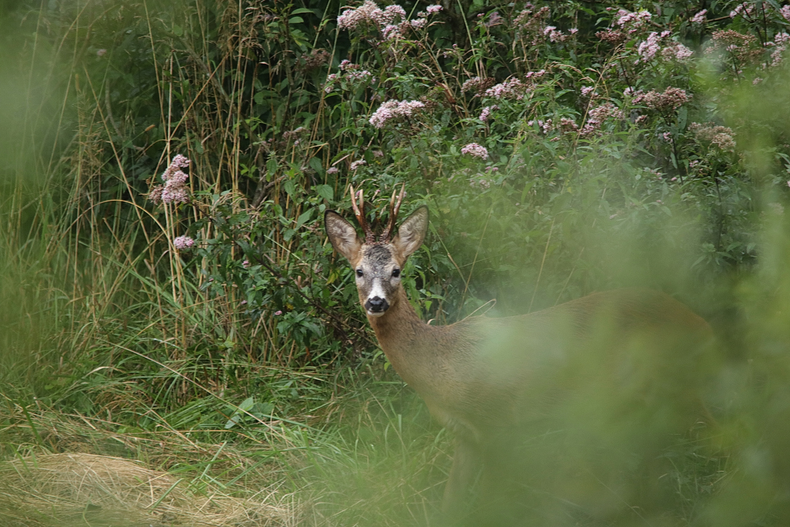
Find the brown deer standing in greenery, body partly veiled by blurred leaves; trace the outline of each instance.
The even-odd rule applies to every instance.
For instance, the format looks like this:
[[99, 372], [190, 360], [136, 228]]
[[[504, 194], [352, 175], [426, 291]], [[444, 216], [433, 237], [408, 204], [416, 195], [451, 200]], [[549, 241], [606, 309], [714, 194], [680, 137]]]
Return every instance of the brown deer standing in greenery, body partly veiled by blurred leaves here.
[[[393, 237], [393, 201], [389, 232], [380, 241], [355, 201], [365, 239], [332, 211], [325, 216], [326, 230], [355, 269], [359, 301], [389, 362], [431, 414], [456, 433], [443, 510], [463, 509], [481, 465], [495, 465], [488, 460], [502, 444], [498, 438], [529, 430], [530, 423], [554, 419], [551, 426], [561, 428], [577, 414], [584, 420], [585, 413], [600, 409], [602, 421], [641, 427], [641, 443], [675, 432], [661, 416], [668, 412], [667, 400], [674, 401], [675, 414], [687, 412], [687, 402], [694, 400], [695, 350], [710, 337], [702, 318], [664, 293], [620, 289], [531, 314], [429, 326], [400, 283], [406, 258], [423, 242], [427, 209], [412, 213]], [[638, 401], [638, 409], [630, 401]], [[590, 500], [605, 501], [599, 495]]]

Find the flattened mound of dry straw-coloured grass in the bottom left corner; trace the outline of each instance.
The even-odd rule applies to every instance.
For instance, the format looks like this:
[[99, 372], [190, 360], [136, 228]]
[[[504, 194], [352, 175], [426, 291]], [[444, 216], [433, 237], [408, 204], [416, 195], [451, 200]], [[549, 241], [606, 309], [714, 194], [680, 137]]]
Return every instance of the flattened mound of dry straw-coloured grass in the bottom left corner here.
[[0, 465], [3, 525], [295, 525], [275, 492], [192, 495], [182, 480], [138, 461], [93, 454], [21, 457]]

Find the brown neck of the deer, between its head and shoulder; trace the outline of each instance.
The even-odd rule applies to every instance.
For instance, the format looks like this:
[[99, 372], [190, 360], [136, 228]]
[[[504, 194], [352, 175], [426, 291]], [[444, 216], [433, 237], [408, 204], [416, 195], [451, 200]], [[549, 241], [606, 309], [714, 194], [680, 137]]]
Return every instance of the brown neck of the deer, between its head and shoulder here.
[[397, 374], [423, 397], [436, 390], [444, 373], [441, 357], [452, 348], [453, 326], [428, 326], [420, 320], [403, 288], [385, 314], [368, 320]]

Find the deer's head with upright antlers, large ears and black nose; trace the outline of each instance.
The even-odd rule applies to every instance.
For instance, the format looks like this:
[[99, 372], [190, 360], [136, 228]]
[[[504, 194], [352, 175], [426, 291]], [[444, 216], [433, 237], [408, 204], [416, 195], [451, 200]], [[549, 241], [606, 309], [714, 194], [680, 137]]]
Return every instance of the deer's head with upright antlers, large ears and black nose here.
[[359, 303], [365, 308], [367, 316], [380, 317], [394, 303], [401, 299], [405, 301], [405, 296], [398, 294], [403, 290], [401, 269], [406, 258], [423, 244], [428, 228], [428, 208], [423, 205], [416, 209], [404, 220], [397, 235], [393, 237], [404, 188], [397, 200], [393, 191], [389, 200], [389, 220], [384, 233], [377, 240], [363, 212], [362, 190], [359, 190], [359, 206], [353, 187], [351, 191], [352, 206], [363, 229], [364, 238], [360, 238], [354, 226], [333, 210], [327, 210], [324, 215], [326, 235], [329, 236], [332, 247], [351, 263], [356, 276]]

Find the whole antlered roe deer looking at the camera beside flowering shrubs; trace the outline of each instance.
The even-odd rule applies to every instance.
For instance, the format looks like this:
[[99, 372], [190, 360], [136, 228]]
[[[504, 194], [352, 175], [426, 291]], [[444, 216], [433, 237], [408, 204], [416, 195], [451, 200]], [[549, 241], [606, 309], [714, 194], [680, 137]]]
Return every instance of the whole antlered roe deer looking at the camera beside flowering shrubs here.
[[[393, 192], [389, 223], [377, 240], [362, 192], [359, 206], [351, 192], [364, 237], [331, 210], [325, 213], [326, 234], [354, 269], [359, 303], [389, 362], [456, 435], [442, 510], [452, 517], [467, 508], [468, 488], [480, 469], [483, 480], [496, 486], [504, 473], [534, 472], [549, 463], [540, 469], [540, 482], [530, 480], [534, 474], [517, 475], [522, 487], [549, 488], [558, 503], [573, 501], [586, 507], [585, 514], [610, 520], [648, 514], [628, 503], [655, 495], [655, 488], [640, 494], [623, 483], [623, 473], [634, 463], [631, 451], [650, 465], [649, 457], [658, 457], [694, 423], [702, 344], [711, 336], [707, 322], [669, 295], [634, 288], [596, 292], [530, 314], [429, 326], [401, 285], [401, 269], [426, 235], [427, 207], [416, 209], [396, 234], [404, 190], [397, 199]], [[562, 446], [555, 446], [562, 455], [546, 457], [555, 461], [540, 459], [547, 450], [530, 428], [540, 422], [562, 431], [564, 439], [556, 443]], [[513, 439], [527, 435], [530, 445], [518, 455], [532, 456], [531, 468], [497, 457], [500, 447], [517, 451]], [[519, 468], [509, 471], [509, 465]]]

